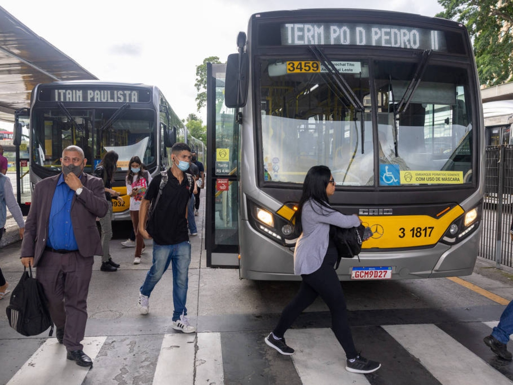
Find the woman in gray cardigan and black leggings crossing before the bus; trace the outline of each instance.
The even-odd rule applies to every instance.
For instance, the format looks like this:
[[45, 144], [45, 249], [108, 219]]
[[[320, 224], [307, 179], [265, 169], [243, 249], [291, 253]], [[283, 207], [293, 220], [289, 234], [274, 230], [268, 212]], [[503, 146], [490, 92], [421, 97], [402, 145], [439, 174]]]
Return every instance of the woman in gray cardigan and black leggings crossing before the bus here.
[[337, 248], [330, 237], [330, 225], [356, 227], [356, 215], [344, 215], [332, 208], [328, 197], [335, 192], [335, 181], [326, 166], [311, 167], [305, 177], [295, 225], [301, 232], [294, 251], [294, 273], [301, 275], [299, 292], [285, 306], [278, 325], [265, 338], [265, 343], [281, 354], [294, 350], [285, 343], [284, 334], [294, 320], [317, 298], [326, 302], [331, 313], [331, 329], [347, 357], [346, 370], [352, 373], [372, 373], [381, 367], [376, 361], [362, 357], [354, 347], [346, 301], [334, 266]]

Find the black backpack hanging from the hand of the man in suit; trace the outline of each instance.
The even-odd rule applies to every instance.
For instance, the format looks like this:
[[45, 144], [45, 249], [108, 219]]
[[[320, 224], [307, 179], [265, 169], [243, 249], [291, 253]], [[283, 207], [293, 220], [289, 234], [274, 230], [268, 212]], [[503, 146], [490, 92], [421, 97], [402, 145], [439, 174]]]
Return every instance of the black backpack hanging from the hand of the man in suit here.
[[49, 336], [53, 334], [53, 321], [48, 311], [48, 305], [43, 286], [32, 278], [24, 268], [22, 278], [14, 287], [6, 313], [9, 325], [19, 334], [36, 336], [50, 328]]

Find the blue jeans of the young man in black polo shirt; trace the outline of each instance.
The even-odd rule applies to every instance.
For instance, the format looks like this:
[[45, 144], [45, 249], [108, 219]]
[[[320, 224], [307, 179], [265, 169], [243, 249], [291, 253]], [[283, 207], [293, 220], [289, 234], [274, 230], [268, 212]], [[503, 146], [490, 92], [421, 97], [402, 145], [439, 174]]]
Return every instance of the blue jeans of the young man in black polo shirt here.
[[187, 315], [187, 288], [189, 285], [189, 264], [191, 262], [191, 244], [189, 241], [174, 245], [159, 245], [153, 242], [153, 262], [141, 286], [141, 294], [149, 297], [160, 281], [169, 263], [173, 269], [173, 321]]

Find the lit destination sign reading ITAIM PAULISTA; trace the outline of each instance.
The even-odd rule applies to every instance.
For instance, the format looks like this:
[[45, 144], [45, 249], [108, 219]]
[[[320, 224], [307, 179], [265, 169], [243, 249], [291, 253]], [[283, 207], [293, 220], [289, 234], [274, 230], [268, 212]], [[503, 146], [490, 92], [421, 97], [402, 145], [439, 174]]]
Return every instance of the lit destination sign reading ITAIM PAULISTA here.
[[105, 88], [55, 88], [44, 90], [40, 94], [40, 100], [51, 102], [93, 102], [93, 103], [141, 103], [149, 101], [144, 92], [140, 98], [140, 90], [137, 89], [105, 89]]

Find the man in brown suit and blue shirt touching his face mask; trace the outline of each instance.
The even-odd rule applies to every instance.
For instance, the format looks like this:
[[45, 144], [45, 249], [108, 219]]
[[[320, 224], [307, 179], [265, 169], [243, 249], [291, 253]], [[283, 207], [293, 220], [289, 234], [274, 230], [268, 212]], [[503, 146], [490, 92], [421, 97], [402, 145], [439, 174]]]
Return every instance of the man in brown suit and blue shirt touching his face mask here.
[[84, 151], [68, 146], [61, 158], [63, 172], [37, 183], [25, 223], [22, 263], [37, 267], [56, 336], [67, 358], [90, 367], [84, 353], [87, 293], [93, 255], [102, 255], [96, 217], [108, 210], [101, 179], [84, 174]]

